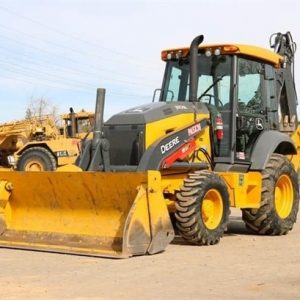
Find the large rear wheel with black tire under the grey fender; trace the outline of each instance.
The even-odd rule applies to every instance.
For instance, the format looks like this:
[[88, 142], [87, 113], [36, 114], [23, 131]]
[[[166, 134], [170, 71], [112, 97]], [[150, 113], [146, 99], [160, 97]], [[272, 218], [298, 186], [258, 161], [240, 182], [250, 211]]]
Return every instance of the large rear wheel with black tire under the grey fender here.
[[284, 155], [273, 154], [262, 171], [261, 207], [242, 209], [243, 220], [257, 234], [287, 234], [296, 222], [298, 207], [297, 173]]

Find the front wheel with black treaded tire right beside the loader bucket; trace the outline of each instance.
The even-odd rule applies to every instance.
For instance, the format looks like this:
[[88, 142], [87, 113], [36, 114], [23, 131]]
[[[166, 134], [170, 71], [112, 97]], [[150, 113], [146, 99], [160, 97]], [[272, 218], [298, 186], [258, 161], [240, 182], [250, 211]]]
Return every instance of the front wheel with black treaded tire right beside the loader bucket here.
[[177, 193], [176, 226], [180, 235], [196, 245], [220, 241], [229, 221], [229, 195], [223, 179], [208, 171], [188, 174]]

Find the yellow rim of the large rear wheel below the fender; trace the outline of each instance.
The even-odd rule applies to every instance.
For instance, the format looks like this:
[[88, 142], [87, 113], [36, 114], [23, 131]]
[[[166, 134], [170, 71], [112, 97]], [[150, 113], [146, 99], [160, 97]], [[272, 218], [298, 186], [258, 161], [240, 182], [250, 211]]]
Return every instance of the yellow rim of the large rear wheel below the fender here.
[[281, 219], [285, 219], [291, 213], [293, 202], [292, 181], [288, 175], [281, 175], [275, 186], [275, 209]]

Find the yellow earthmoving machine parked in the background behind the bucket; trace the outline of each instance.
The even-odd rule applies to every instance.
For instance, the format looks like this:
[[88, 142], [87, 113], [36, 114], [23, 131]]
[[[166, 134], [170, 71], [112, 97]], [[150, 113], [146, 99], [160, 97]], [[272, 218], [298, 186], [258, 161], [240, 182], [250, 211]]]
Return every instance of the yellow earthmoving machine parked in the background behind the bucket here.
[[94, 114], [81, 111], [61, 116], [59, 128], [51, 116], [0, 125], [1, 165], [19, 171], [52, 171], [73, 163], [79, 143], [92, 130]]

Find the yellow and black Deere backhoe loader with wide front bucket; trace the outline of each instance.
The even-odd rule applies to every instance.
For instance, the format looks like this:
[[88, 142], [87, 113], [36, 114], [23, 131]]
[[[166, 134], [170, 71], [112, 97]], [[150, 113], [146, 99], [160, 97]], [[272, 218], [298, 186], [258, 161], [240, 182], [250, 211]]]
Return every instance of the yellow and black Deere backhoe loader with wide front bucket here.
[[93, 139], [75, 165], [0, 172], [1, 246], [130, 257], [163, 251], [174, 226], [189, 243], [213, 245], [230, 207], [256, 234], [292, 229], [300, 151], [292, 36], [273, 35], [274, 51], [203, 39], [162, 51], [159, 102], [103, 122], [98, 89]]

